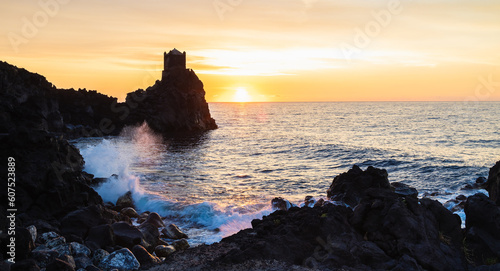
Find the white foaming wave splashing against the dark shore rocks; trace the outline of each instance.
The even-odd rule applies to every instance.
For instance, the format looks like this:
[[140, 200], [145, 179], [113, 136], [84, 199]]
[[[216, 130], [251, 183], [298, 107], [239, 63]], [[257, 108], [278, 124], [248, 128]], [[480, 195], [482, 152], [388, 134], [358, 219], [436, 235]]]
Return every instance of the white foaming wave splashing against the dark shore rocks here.
[[[180, 203], [163, 194], [148, 191], [141, 184], [141, 177], [130, 173], [133, 161], [140, 160], [146, 150], [161, 144], [161, 138], [152, 134], [143, 124], [128, 128], [125, 134], [113, 139], [97, 139], [93, 143], [77, 144], [85, 160], [84, 170], [107, 181], [96, 187], [105, 202], [116, 204], [128, 191], [138, 212], [157, 212], [166, 223], [176, 223], [190, 236], [190, 243], [211, 244], [251, 227], [251, 221], [271, 213], [270, 205], [246, 203], [229, 206], [214, 202]], [[148, 154], [151, 159], [151, 153]], [[237, 176], [246, 178], [249, 176]]]

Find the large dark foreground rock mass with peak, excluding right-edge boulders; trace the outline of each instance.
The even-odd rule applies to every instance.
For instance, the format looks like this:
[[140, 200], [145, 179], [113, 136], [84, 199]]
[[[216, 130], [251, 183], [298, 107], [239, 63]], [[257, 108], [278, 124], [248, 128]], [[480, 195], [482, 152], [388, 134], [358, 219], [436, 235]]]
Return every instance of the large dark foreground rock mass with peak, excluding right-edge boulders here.
[[220, 245], [231, 249], [220, 261], [268, 259], [318, 270], [466, 269], [457, 215], [437, 201], [394, 193], [382, 170], [354, 168], [340, 176], [329, 196], [342, 195], [356, 208], [275, 211], [224, 238]]

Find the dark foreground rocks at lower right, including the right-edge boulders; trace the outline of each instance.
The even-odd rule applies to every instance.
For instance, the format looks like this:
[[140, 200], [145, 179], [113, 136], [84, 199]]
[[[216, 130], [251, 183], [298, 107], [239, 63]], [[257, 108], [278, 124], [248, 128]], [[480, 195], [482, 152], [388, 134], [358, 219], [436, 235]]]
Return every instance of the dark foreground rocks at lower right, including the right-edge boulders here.
[[334, 179], [328, 196], [335, 201], [277, 208], [253, 220], [250, 229], [218, 244], [176, 252], [152, 270], [498, 268], [495, 204], [482, 194], [468, 199], [464, 236], [457, 215], [417, 195], [408, 185], [389, 184], [384, 170], [353, 167]]

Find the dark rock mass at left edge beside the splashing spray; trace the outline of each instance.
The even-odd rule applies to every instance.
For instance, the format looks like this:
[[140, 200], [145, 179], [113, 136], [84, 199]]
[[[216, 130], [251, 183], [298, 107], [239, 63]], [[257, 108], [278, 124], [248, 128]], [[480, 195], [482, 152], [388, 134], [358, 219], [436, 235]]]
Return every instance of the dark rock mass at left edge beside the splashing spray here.
[[[92, 175], [82, 171], [83, 158], [66, 140], [44, 131], [15, 131], [0, 136], [0, 154], [15, 159], [17, 221], [26, 226], [58, 227], [68, 212], [102, 203], [89, 186]], [[3, 176], [6, 170], [2, 167]], [[2, 190], [2, 202], [6, 193]]]

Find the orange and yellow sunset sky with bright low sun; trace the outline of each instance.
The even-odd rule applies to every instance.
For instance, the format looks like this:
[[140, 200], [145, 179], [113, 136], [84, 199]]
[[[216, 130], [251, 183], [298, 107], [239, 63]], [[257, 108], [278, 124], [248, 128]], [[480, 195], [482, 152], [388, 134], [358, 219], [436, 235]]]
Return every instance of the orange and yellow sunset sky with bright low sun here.
[[500, 101], [498, 0], [1, 0], [0, 60], [124, 99], [187, 53], [208, 102]]

